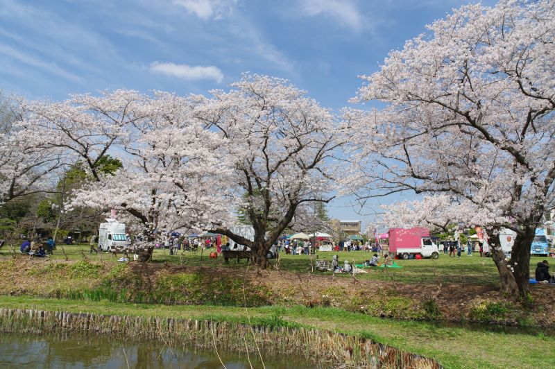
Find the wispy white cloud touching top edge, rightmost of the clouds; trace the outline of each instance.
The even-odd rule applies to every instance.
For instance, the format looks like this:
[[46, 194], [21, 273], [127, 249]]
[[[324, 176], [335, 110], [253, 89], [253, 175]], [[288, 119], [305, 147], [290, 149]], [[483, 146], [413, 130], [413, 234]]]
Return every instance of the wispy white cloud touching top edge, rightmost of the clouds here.
[[364, 26], [361, 12], [353, 1], [347, 0], [300, 0], [300, 10], [307, 17], [319, 15], [337, 20], [341, 26], [361, 31]]

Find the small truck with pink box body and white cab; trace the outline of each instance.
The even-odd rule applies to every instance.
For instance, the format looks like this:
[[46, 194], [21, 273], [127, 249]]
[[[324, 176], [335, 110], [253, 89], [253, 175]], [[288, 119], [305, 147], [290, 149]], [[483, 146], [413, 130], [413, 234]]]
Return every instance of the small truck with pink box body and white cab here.
[[389, 230], [389, 252], [409, 259], [410, 255], [421, 257], [439, 257], [438, 246], [429, 237], [427, 228], [392, 228]]

